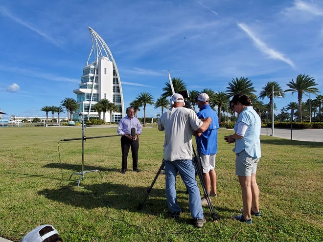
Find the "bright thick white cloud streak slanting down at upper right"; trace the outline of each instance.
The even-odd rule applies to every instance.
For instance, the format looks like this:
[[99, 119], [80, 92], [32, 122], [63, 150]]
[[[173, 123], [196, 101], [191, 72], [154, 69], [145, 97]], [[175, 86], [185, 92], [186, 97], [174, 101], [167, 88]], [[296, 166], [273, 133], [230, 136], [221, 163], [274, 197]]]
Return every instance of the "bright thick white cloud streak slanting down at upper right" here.
[[268, 47], [265, 43], [263, 43], [259, 38], [256, 37], [256, 35], [251, 31], [251, 29], [246, 24], [238, 23], [238, 26], [249, 35], [249, 37], [254, 41], [254, 44], [259, 48], [261, 52], [269, 56], [269, 58], [283, 61], [295, 69], [294, 63], [289, 58], [286, 58], [279, 51]]

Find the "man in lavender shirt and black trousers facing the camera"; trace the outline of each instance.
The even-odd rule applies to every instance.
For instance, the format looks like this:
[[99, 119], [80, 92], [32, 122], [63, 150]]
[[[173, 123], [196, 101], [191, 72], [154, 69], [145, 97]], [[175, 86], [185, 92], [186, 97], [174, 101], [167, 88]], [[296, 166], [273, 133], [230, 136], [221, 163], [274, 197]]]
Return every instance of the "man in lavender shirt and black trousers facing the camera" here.
[[[127, 116], [123, 117], [119, 121], [118, 134], [121, 136], [121, 151], [122, 151], [122, 163], [121, 173], [125, 174], [127, 171], [127, 158], [131, 147], [132, 154], [132, 169], [136, 172], [140, 172], [138, 169], [138, 149], [139, 149], [139, 134], [142, 131], [141, 124], [138, 118], [134, 117], [135, 109], [129, 107], [126, 110]], [[132, 131], [133, 129], [133, 131]]]

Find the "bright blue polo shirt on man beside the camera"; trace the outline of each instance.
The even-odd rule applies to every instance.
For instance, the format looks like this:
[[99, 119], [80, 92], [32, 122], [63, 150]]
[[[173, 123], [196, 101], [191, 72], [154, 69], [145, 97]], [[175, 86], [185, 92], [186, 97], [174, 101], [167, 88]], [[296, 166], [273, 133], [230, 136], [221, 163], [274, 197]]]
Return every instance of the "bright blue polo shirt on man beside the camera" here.
[[208, 117], [212, 119], [208, 130], [203, 132], [200, 137], [195, 138], [197, 150], [202, 154], [216, 154], [218, 150], [219, 117], [209, 104], [201, 106], [197, 116], [200, 119]]

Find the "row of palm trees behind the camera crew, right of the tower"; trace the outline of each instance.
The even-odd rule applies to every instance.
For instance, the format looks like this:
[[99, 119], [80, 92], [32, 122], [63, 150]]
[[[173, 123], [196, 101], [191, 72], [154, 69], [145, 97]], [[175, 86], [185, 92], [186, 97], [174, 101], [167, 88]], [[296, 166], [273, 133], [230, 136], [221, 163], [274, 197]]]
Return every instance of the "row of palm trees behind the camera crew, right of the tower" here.
[[[183, 80], [179, 78], [172, 78], [172, 84], [174, 87], [175, 92], [186, 90], [186, 84]], [[232, 78], [231, 82], [228, 83], [228, 87], [226, 88], [226, 91], [218, 91], [215, 92], [210, 88], [205, 88], [201, 91], [198, 90], [190, 90], [189, 91], [189, 97], [185, 100], [186, 104], [188, 104], [188, 107], [195, 109], [195, 97], [201, 92], [205, 92], [208, 94], [210, 98], [210, 106], [212, 109], [216, 109], [218, 111], [219, 120], [221, 120], [221, 111], [223, 111], [223, 114], [226, 111], [231, 111], [228, 109], [228, 105], [230, 102], [230, 98], [235, 94], [246, 94], [248, 95], [253, 103], [254, 109], [259, 113], [260, 116], [263, 116], [264, 114], [271, 114], [271, 107], [273, 103], [273, 98], [278, 97], [279, 95], [281, 97], [285, 97], [285, 92], [292, 92], [298, 94], [298, 104], [296, 102], [289, 103], [286, 107], [284, 107], [281, 111], [285, 116], [286, 119], [286, 111], [287, 110], [297, 110], [295, 112], [295, 116], [298, 121], [302, 122], [302, 116], [304, 109], [303, 107], [307, 107], [308, 103], [311, 103], [311, 113], [309, 113], [310, 116], [312, 116], [312, 113], [314, 115], [315, 119], [315, 113], [317, 113], [316, 119], [321, 121], [322, 119], [322, 105], [323, 105], [323, 96], [318, 95], [319, 89], [316, 88], [318, 84], [315, 82], [315, 79], [313, 77], [310, 77], [309, 75], [300, 74], [297, 76], [296, 81], [292, 79], [292, 81], [287, 83], [288, 89], [283, 90], [279, 83], [276, 81], [268, 81], [265, 86], [262, 88], [262, 90], [259, 93], [259, 97], [255, 95], [255, 88], [253, 86], [252, 80], [249, 80], [246, 77], [240, 77], [240, 78]], [[156, 102], [154, 102], [153, 96], [148, 92], [140, 92], [138, 94], [137, 98], [130, 103], [130, 106], [133, 106], [135, 108], [135, 113], [137, 115], [138, 110], [140, 110], [141, 107], [143, 107], [143, 125], [146, 124], [146, 105], [155, 105], [154, 108], [158, 109], [161, 108], [161, 114], [163, 113], [164, 109], [168, 109], [170, 107], [170, 103], [168, 100], [168, 97], [172, 95], [172, 88], [169, 83], [165, 83], [165, 87], [162, 88], [164, 91], [161, 94], [161, 97], [159, 97]], [[307, 100], [304, 104], [302, 102], [303, 95], [307, 95], [307, 93], [313, 93], [316, 96], [313, 100]], [[273, 95], [274, 94], [274, 95]], [[269, 98], [270, 102], [268, 104], [264, 104], [259, 99], [264, 99], [265, 97]], [[276, 109], [276, 105], [274, 104], [274, 110]], [[231, 111], [232, 113], [232, 111]], [[232, 113], [233, 114], [233, 113]], [[271, 116], [271, 115], [270, 115]], [[282, 116], [282, 117], [284, 117]], [[286, 121], [286, 120], [284, 120]]]

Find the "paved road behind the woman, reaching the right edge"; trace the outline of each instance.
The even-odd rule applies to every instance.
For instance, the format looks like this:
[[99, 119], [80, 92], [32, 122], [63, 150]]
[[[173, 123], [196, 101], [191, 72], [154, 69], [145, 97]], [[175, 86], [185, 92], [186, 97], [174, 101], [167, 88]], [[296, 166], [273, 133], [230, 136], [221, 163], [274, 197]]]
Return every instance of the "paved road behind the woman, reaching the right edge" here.
[[[271, 128], [261, 128], [261, 134], [268, 136], [272, 134]], [[294, 130], [293, 136], [291, 135], [290, 129], [278, 129], [274, 128], [274, 136], [284, 139], [292, 139], [299, 141], [311, 141], [311, 142], [323, 142], [323, 129], [305, 129], [305, 130]]]

